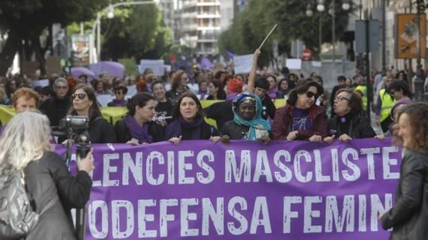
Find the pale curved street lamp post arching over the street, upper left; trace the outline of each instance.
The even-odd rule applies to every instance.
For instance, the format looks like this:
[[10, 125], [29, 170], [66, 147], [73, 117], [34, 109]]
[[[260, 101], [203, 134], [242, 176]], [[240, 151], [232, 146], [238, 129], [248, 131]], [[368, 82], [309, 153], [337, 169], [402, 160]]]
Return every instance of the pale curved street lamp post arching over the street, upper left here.
[[[118, 2], [115, 4], [110, 4], [108, 7], [104, 8], [100, 12], [97, 13], [97, 18], [95, 22], [92, 24], [92, 36], [95, 35], [95, 30], [97, 32], [97, 54], [96, 60], [101, 60], [101, 17], [107, 11], [107, 17], [114, 17], [114, 8], [120, 6], [129, 6], [129, 5], [147, 5], [147, 4], [156, 4], [154, 1], [128, 1], [128, 2]], [[92, 38], [95, 41], [95, 37]], [[95, 44], [93, 44], [94, 46]]]

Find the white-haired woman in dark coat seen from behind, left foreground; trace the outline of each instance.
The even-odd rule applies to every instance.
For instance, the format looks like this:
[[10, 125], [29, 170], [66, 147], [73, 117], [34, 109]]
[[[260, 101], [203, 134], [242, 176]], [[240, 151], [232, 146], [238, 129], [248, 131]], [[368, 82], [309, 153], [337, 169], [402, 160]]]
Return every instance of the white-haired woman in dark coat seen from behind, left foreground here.
[[[35, 128], [35, 126], [37, 126]], [[76, 162], [78, 173], [71, 176], [65, 162], [54, 153], [48, 118], [26, 111], [7, 124], [0, 137], [2, 174], [21, 172], [33, 210], [40, 214], [26, 239], [75, 239], [71, 208], [83, 208], [89, 199], [93, 169], [92, 151]]]

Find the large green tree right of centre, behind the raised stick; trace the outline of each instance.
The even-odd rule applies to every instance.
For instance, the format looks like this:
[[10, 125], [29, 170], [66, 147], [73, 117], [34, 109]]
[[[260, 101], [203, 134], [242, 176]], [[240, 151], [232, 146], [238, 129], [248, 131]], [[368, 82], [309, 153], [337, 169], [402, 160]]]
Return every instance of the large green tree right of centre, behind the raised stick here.
[[[332, 0], [325, 0], [326, 11], [322, 14], [322, 40], [332, 41], [332, 16], [327, 14]], [[233, 19], [229, 30], [219, 37], [220, 51], [232, 50], [236, 54], [252, 53], [259, 47], [273, 25], [277, 29], [265, 44], [264, 49], [271, 49], [271, 40], [279, 41], [280, 52], [290, 53], [291, 41], [301, 39], [306, 48], [312, 52], [319, 51], [319, 14], [312, 17], [305, 15], [307, 6], [311, 5], [314, 13], [315, 0], [250, 0], [248, 6]], [[336, 40], [338, 40], [348, 24], [349, 11], [341, 9], [341, 2], [336, 0]], [[267, 61], [267, 55], [264, 55]]]

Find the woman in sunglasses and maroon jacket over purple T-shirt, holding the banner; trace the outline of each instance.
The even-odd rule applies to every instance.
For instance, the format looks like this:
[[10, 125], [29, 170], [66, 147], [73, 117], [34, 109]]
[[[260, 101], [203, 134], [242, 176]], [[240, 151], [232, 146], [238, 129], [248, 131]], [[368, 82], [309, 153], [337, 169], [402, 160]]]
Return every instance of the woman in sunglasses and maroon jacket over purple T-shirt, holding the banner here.
[[288, 95], [287, 105], [275, 113], [272, 140], [322, 142], [327, 136], [325, 108], [315, 102], [323, 92], [321, 85], [310, 78], [299, 81]]

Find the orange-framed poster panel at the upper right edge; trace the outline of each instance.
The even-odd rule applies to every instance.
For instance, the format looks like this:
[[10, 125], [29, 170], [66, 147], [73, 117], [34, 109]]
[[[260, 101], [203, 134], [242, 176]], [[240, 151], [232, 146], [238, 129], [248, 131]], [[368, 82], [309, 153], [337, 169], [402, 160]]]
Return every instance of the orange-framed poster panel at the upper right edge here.
[[[417, 58], [418, 54], [418, 21], [416, 14], [397, 14], [396, 58]], [[420, 43], [421, 58], [425, 58], [427, 46], [427, 16], [421, 15], [420, 19]]]

